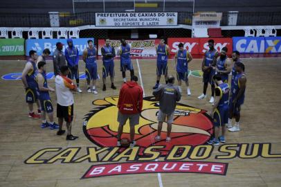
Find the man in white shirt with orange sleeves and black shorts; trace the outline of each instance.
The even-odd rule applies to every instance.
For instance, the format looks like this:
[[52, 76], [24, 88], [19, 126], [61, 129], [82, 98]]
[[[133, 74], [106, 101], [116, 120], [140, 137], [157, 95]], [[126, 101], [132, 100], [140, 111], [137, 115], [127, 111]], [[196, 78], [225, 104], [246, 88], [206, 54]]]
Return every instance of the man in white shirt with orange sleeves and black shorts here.
[[66, 121], [67, 136], [66, 140], [73, 141], [78, 139], [78, 136], [71, 134], [71, 122], [73, 120], [73, 94], [72, 91], [77, 91], [77, 87], [73, 84], [72, 80], [67, 78], [69, 75], [69, 67], [61, 66], [60, 75], [55, 77], [55, 92], [57, 94], [57, 118], [60, 125], [60, 129], [57, 132], [58, 136], [64, 134], [65, 130], [62, 130], [62, 125]]

